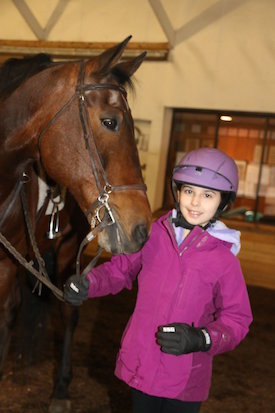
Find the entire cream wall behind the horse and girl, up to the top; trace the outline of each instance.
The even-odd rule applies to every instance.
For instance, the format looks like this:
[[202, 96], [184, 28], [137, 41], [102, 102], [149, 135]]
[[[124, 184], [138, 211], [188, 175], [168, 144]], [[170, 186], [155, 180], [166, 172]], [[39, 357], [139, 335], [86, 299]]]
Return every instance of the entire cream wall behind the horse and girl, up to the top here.
[[[25, 1], [42, 27], [58, 3]], [[134, 118], [151, 121], [146, 179], [153, 210], [163, 197], [171, 108], [275, 112], [273, 0], [161, 4], [177, 34], [170, 39], [175, 46], [169, 61], [143, 63], [136, 97], [129, 97]], [[0, 11], [0, 38], [36, 39], [11, 0], [1, 0]], [[136, 42], [164, 42], [165, 29], [146, 0], [68, 0], [47, 40], [120, 41], [133, 34]]]

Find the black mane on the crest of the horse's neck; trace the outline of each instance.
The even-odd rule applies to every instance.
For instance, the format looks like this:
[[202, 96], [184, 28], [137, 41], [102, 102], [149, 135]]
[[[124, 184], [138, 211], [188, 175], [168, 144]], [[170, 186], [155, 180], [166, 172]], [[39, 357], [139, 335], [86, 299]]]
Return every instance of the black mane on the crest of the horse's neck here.
[[24, 80], [41, 72], [52, 64], [50, 55], [39, 53], [24, 58], [11, 58], [0, 68], [0, 96], [5, 98], [17, 89]]

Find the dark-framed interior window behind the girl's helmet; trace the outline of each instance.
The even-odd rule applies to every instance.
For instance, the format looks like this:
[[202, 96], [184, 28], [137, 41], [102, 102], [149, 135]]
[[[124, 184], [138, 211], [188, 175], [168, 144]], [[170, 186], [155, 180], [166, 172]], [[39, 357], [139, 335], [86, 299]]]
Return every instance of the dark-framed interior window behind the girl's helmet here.
[[[231, 117], [224, 121], [221, 115]], [[164, 208], [173, 206], [172, 170], [192, 149], [216, 147], [239, 170], [239, 189], [228, 218], [275, 225], [275, 115], [175, 109], [164, 192]]]

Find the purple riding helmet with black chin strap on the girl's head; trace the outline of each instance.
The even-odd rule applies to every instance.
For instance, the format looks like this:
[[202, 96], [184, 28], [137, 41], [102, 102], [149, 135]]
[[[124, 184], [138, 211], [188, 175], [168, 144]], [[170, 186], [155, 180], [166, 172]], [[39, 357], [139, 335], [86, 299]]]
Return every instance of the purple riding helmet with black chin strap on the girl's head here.
[[[176, 203], [176, 226], [193, 229], [182, 216], [177, 201], [175, 185], [182, 183], [214, 189], [222, 193], [222, 201], [210, 224], [215, 222], [226, 206], [236, 198], [238, 190], [238, 168], [232, 158], [216, 148], [200, 148], [186, 154], [173, 170], [172, 193]], [[175, 184], [175, 185], [173, 185]]]

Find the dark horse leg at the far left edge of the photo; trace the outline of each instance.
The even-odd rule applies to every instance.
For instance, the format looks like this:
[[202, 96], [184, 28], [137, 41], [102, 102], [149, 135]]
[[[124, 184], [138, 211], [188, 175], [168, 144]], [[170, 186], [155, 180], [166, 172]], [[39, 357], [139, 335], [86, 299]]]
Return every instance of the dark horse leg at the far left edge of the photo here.
[[0, 263], [0, 377], [8, 353], [11, 332], [15, 325], [21, 302], [20, 288], [16, 277], [17, 268], [9, 260]]

